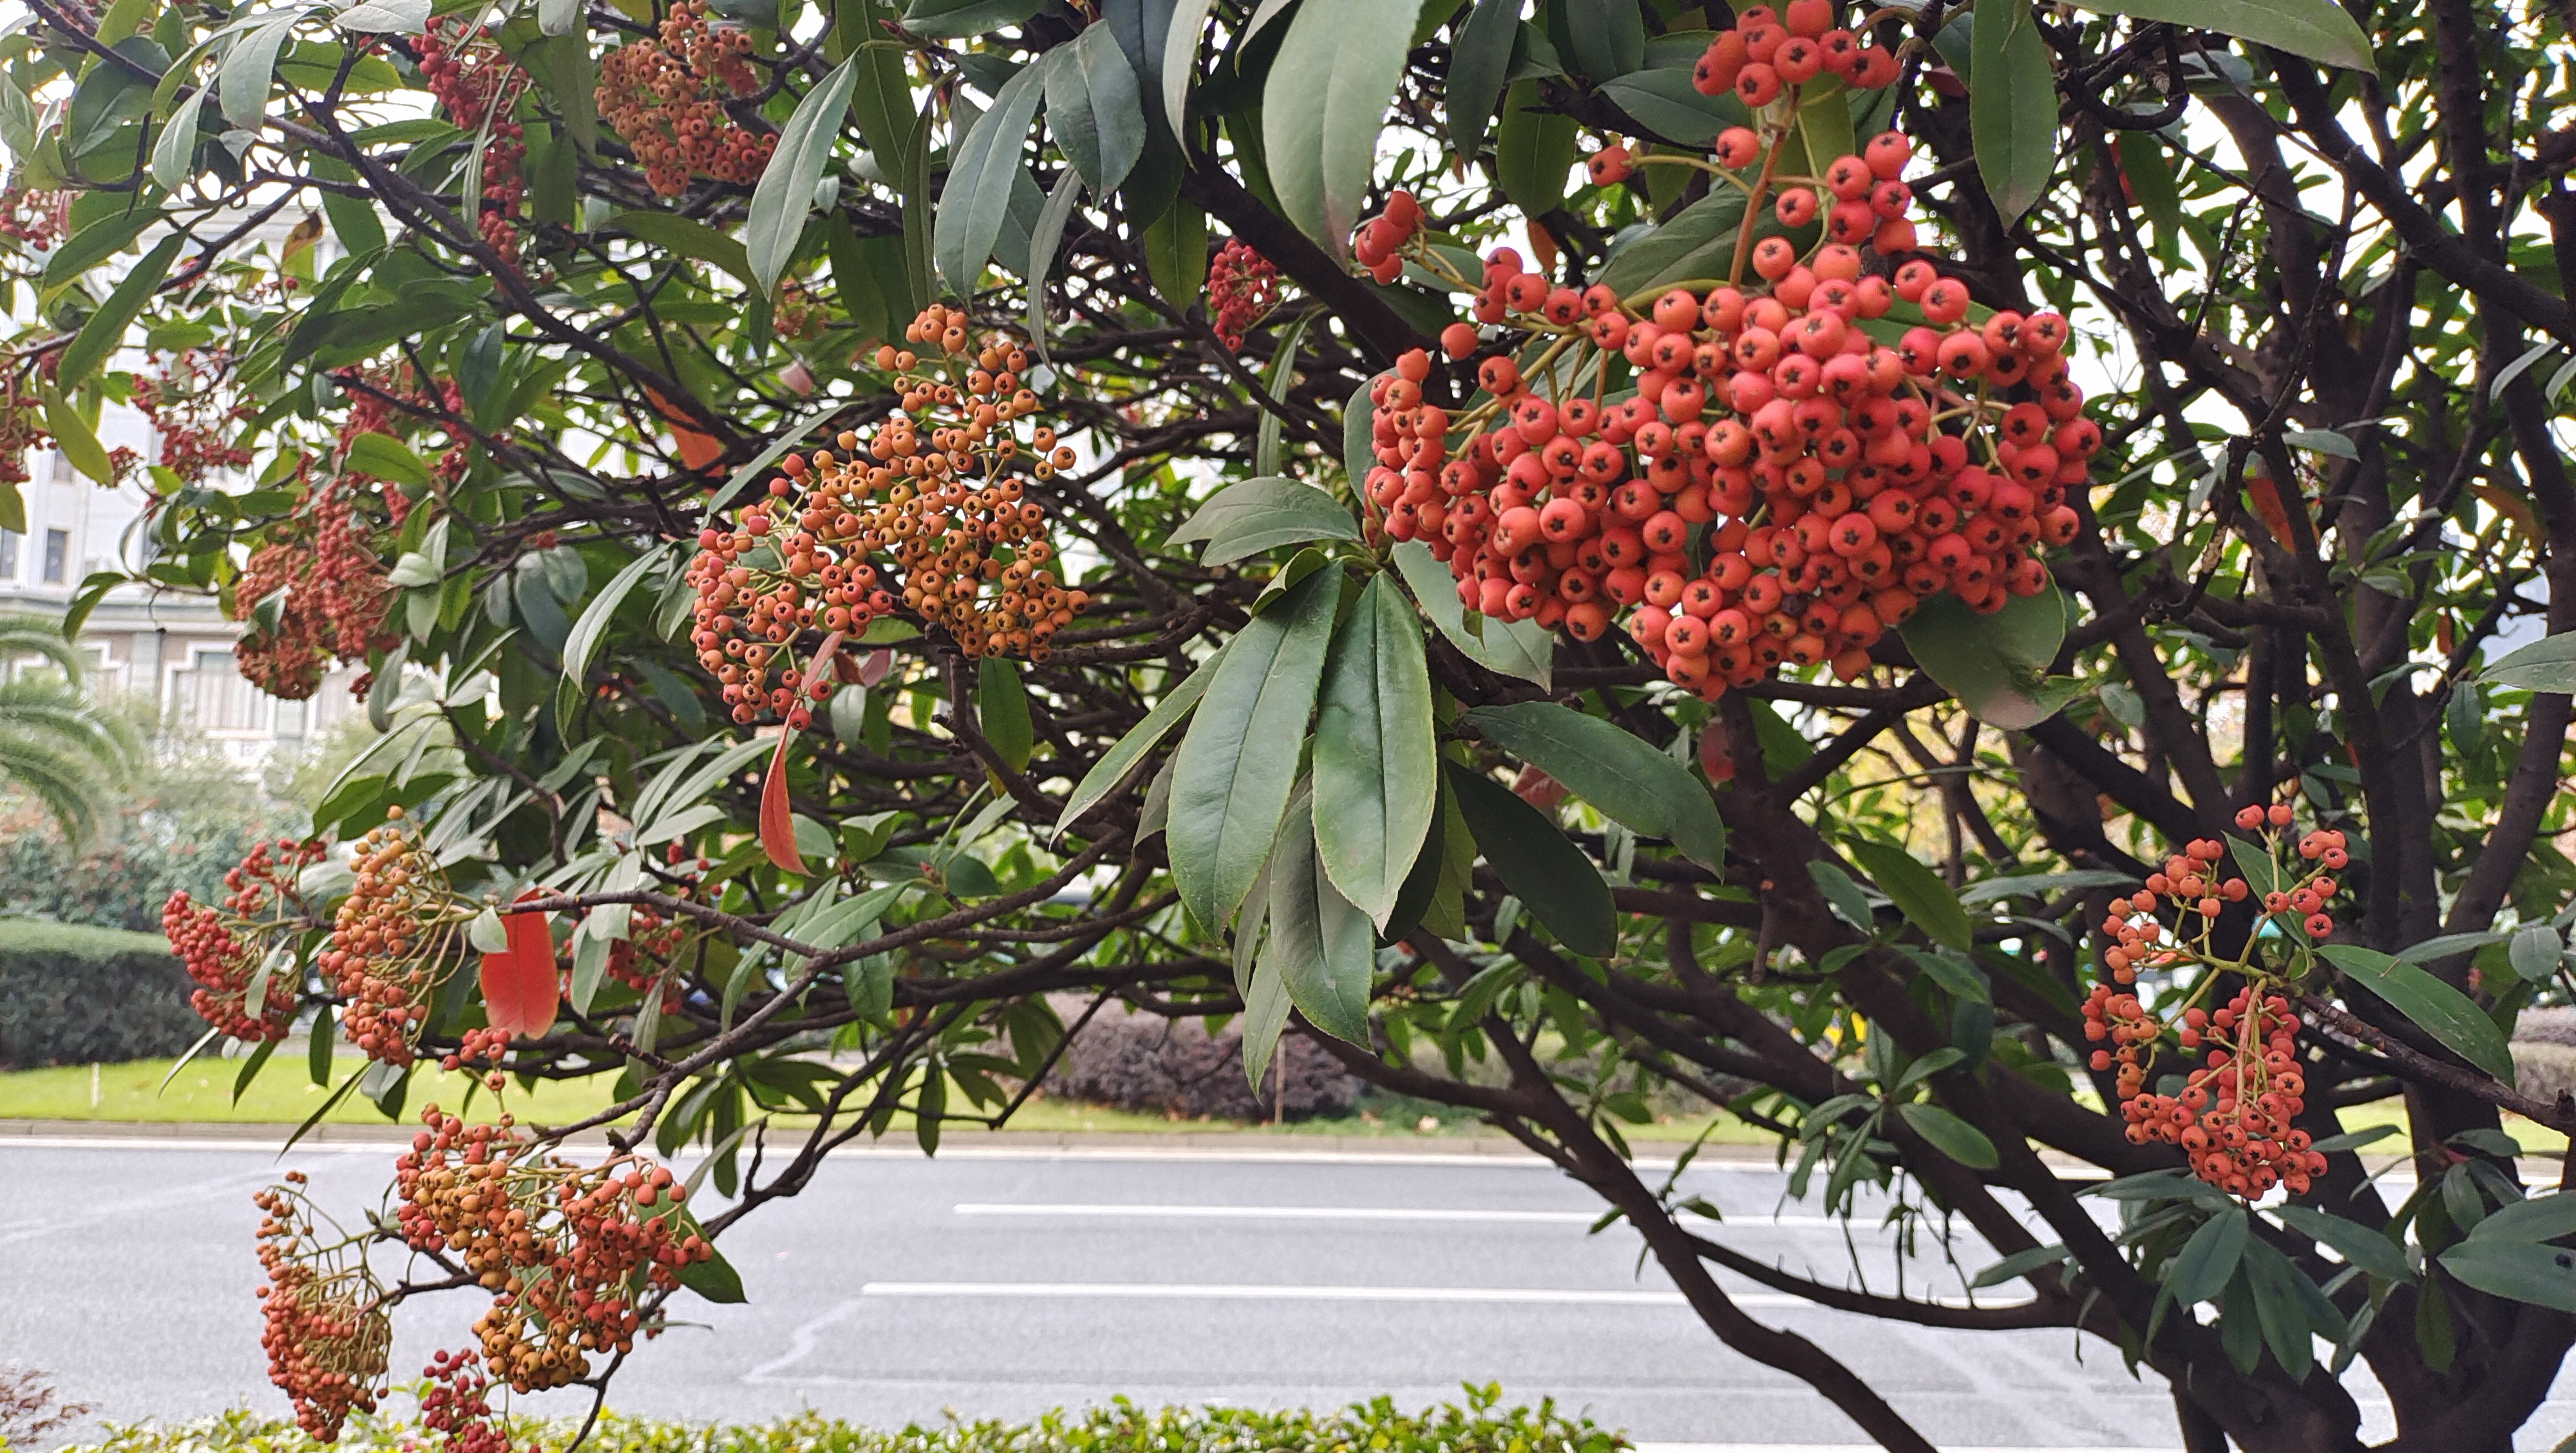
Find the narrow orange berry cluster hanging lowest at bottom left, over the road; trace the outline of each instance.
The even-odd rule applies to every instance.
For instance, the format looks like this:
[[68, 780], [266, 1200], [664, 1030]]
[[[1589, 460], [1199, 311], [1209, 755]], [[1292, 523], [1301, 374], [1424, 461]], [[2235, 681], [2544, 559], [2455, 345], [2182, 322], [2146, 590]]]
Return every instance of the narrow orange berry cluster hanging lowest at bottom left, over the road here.
[[260, 1208], [260, 1288], [268, 1381], [294, 1401], [296, 1425], [314, 1443], [335, 1443], [350, 1412], [376, 1412], [394, 1327], [384, 1288], [366, 1270], [366, 1249], [325, 1239], [322, 1216], [304, 1195], [304, 1172], [286, 1172], [252, 1198]]

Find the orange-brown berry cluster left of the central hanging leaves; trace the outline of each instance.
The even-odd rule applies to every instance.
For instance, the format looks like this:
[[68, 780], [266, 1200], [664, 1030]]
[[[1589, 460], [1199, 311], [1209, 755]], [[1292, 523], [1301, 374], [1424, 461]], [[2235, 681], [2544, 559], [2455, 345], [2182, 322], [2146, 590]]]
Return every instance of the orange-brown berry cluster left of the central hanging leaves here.
[[[732, 531], [698, 533], [690, 644], [724, 685], [734, 721], [811, 721], [799, 693], [822, 701], [832, 683], [806, 683], [788, 665], [809, 629], [863, 631], [902, 603], [945, 626], [969, 657], [1046, 660], [1046, 641], [1090, 603], [1048, 569], [1046, 510], [1012, 474], [1023, 451], [1012, 425], [1038, 412], [1038, 397], [1020, 384], [1028, 356], [1010, 340], [976, 340], [966, 314], [938, 307], [907, 337], [948, 356], [956, 381], [914, 374], [922, 361], [912, 350], [878, 348], [878, 368], [902, 386], [902, 412], [866, 441], [842, 433], [840, 453], [788, 453]], [[1038, 479], [1074, 461], [1043, 425], [1028, 448]], [[878, 580], [878, 551], [894, 556], [899, 593]]]

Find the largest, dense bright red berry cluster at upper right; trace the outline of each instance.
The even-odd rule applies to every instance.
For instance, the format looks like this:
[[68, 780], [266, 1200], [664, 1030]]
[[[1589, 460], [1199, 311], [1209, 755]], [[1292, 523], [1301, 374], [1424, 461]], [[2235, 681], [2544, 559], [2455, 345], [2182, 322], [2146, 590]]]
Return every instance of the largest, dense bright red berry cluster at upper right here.
[[[2069, 492], [2102, 446], [2063, 317], [1971, 325], [1965, 283], [1888, 258], [1914, 245], [1901, 134], [1793, 178], [1777, 173], [1788, 103], [1757, 121], [1723, 134], [1713, 165], [1651, 160], [1703, 165], [1749, 206], [1785, 188], [1785, 227], [1816, 219], [1821, 188], [1814, 247], [1747, 229], [1728, 283], [1651, 299], [1551, 283], [1502, 247], [1476, 322], [1440, 335], [1463, 366], [1489, 348], [1476, 325], [1512, 330], [1476, 368], [1486, 399], [1453, 420], [1414, 350], [1370, 415], [1378, 528], [1430, 541], [1468, 608], [1584, 641], [1628, 611], [1664, 675], [1708, 698], [1783, 665], [1850, 680], [1942, 590], [1981, 613], [2045, 590], [2035, 551], [2074, 538]], [[1448, 268], [1427, 247], [1417, 260]], [[1535, 335], [1528, 376], [1520, 335]], [[1636, 392], [1613, 399], [1620, 363]]]

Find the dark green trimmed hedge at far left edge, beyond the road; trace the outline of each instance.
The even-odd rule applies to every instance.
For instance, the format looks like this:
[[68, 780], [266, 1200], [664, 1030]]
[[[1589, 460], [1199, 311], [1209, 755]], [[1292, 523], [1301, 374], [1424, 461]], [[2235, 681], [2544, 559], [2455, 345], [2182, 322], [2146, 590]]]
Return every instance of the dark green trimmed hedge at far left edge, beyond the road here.
[[206, 1033], [157, 933], [0, 917], [0, 1064], [121, 1064]]

